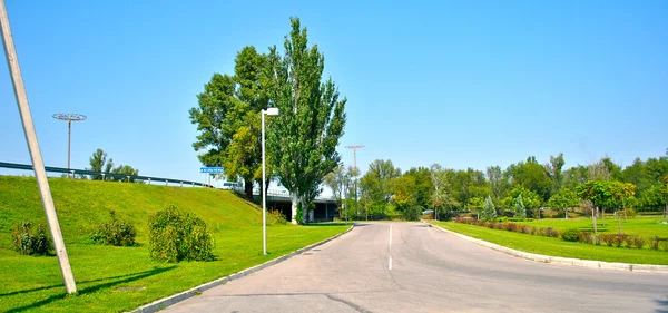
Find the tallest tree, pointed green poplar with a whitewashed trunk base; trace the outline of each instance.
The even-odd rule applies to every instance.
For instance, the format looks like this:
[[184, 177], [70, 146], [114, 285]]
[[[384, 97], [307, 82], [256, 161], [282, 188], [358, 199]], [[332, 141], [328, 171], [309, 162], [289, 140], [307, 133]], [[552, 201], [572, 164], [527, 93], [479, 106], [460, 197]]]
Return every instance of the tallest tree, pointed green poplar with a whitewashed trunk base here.
[[[345, 98], [328, 78], [323, 81], [324, 56], [308, 46], [306, 28], [292, 18], [285, 52], [269, 48], [267, 96], [279, 115], [268, 131], [268, 151], [281, 184], [292, 196], [293, 224], [302, 207], [317, 194], [325, 175], [336, 168], [336, 151], [345, 126]], [[306, 216], [306, 214], [304, 214]]]

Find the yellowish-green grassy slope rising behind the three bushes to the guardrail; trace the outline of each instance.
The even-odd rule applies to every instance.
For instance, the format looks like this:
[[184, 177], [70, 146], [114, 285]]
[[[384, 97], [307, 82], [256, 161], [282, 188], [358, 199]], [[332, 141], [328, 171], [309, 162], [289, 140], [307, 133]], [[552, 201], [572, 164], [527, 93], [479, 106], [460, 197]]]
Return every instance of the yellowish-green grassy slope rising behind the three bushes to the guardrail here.
[[[97, 224], [109, 219], [109, 211], [131, 221], [139, 243], [148, 243], [148, 216], [168, 204], [194, 212], [214, 231], [262, 223], [262, 212], [229, 190], [66, 178], [51, 178], [49, 185], [66, 244], [86, 242]], [[35, 178], [0, 176], [0, 232], [11, 232], [22, 219], [46, 223]], [[8, 236], [0, 237], [0, 247], [11, 248]]]

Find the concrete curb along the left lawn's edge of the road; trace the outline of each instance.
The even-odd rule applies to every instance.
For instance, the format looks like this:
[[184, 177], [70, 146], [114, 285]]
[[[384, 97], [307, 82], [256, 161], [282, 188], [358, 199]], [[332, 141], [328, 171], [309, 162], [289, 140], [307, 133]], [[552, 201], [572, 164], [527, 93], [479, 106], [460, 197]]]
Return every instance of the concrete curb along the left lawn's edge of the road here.
[[176, 304], [178, 302], [181, 302], [181, 301], [184, 301], [184, 300], [186, 300], [188, 297], [191, 297], [191, 296], [195, 296], [195, 295], [199, 295], [203, 292], [205, 292], [207, 290], [210, 290], [210, 288], [213, 288], [215, 286], [219, 286], [219, 285], [225, 284], [227, 282], [230, 282], [230, 281], [234, 281], [234, 280], [238, 280], [240, 277], [244, 277], [244, 276], [246, 276], [248, 274], [255, 273], [255, 272], [257, 272], [259, 270], [263, 270], [265, 267], [278, 264], [278, 263], [281, 263], [281, 262], [283, 262], [285, 260], [288, 260], [288, 258], [291, 258], [291, 257], [293, 257], [293, 256], [295, 256], [297, 254], [301, 254], [303, 252], [310, 251], [310, 250], [312, 250], [312, 248], [314, 248], [316, 246], [320, 246], [320, 245], [323, 245], [325, 243], [328, 243], [328, 242], [331, 242], [331, 241], [333, 241], [335, 238], [338, 238], [338, 237], [347, 234], [354, 227], [355, 227], [355, 225], [353, 224], [353, 225], [351, 225], [350, 228], [347, 228], [345, 232], [343, 232], [343, 233], [341, 233], [338, 235], [335, 235], [335, 236], [332, 236], [332, 237], [326, 238], [324, 241], [317, 242], [315, 244], [312, 244], [312, 245], [298, 248], [298, 250], [296, 250], [294, 252], [291, 252], [291, 253], [288, 253], [286, 255], [276, 257], [274, 260], [269, 260], [269, 261], [267, 261], [267, 262], [265, 262], [263, 264], [255, 265], [253, 267], [243, 270], [243, 271], [234, 273], [232, 275], [228, 275], [228, 276], [215, 280], [213, 282], [208, 282], [208, 283], [202, 284], [199, 286], [196, 286], [194, 288], [187, 290], [185, 292], [177, 293], [175, 295], [170, 295], [170, 296], [167, 296], [167, 297], [164, 297], [164, 299], [156, 300], [156, 301], [154, 301], [154, 302], [151, 302], [149, 304], [145, 304], [145, 305], [139, 306], [138, 309], [135, 309], [135, 310], [129, 311], [129, 312], [131, 312], [131, 313], [153, 313], [153, 312], [157, 312], [157, 311], [164, 310], [165, 307], [167, 307], [169, 305], [174, 305], [174, 304]]

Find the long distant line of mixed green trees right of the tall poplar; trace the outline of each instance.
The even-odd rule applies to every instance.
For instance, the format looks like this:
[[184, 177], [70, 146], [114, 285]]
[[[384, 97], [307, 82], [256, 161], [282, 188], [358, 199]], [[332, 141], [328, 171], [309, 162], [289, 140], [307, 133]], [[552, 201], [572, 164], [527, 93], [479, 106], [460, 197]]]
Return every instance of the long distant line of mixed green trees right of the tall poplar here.
[[[454, 212], [475, 211], [482, 218], [507, 212], [519, 217], [540, 217], [549, 207], [568, 216], [577, 207], [591, 208], [596, 218], [606, 209], [645, 212], [668, 209], [668, 151], [666, 156], [636, 158], [621, 167], [609, 157], [590, 165], [564, 168], [563, 154], [540, 164], [528, 157], [505, 169], [444, 168], [440, 164], [406, 172], [392, 160], [377, 159], [366, 173], [337, 167], [325, 183], [351, 218], [384, 219], [400, 215], [416, 219], [423, 212], [448, 219]], [[341, 214], [345, 214], [344, 209]]]

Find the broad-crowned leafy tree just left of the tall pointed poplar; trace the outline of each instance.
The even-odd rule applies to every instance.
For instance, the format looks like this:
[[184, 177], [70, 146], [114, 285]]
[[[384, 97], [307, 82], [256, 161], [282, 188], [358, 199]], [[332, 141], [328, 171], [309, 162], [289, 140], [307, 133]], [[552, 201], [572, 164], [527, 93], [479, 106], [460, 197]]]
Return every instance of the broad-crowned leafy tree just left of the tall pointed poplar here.
[[199, 131], [193, 144], [199, 160], [225, 167], [228, 177], [242, 177], [247, 198], [254, 180], [262, 183], [259, 111], [267, 108], [266, 65], [265, 55], [245, 47], [236, 56], [234, 75], [214, 74], [197, 95], [198, 106], [189, 110]]

